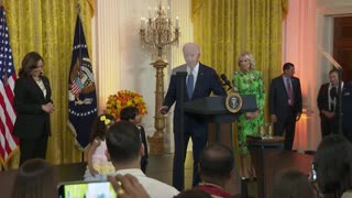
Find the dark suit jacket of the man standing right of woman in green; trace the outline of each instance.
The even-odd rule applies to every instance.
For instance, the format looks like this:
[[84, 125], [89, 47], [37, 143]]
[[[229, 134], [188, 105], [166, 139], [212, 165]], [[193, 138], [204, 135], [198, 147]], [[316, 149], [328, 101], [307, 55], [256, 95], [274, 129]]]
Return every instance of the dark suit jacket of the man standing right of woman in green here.
[[[293, 91], [295, 103], [293, 111], [295, 114], [301, 112], [301, 90], [299, 78], [292, 78]], [[270, 113], [275, 114], [277, 118], [287, 116], [288, 94], [286, 91], [283, 76], [278, 76], [272, 80], [270, 90]]]

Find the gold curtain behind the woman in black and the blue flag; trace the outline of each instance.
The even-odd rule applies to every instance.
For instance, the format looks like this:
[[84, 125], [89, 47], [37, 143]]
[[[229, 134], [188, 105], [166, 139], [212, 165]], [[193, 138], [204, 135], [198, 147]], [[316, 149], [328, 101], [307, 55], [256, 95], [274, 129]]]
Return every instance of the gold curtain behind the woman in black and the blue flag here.
[[[44, 75], [51, 80], [55, 112], [51, 116], [52, 136], [47, 161], [64, 164], [81, 161], [67, 128], [68, 73], [77, 18], [77, 2], [91, 58], [91, 0], [6, 0], [7, 20], [14, 67], [19, 72], [23, 56], [38, 52], [44, 58]], [[19, 164], [19, 152], [8, 166]]]

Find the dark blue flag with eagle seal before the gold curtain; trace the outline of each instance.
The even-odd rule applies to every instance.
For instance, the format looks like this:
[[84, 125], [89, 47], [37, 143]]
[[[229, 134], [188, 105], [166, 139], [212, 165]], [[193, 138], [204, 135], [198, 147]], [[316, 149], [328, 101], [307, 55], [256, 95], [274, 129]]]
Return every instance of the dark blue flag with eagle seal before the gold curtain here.
[[73, 58], [68, 76], [68, 127], [78, 148], [89, 144], [92, 123], [97, 118], [97, 92], [82, 24], [77, 14]]

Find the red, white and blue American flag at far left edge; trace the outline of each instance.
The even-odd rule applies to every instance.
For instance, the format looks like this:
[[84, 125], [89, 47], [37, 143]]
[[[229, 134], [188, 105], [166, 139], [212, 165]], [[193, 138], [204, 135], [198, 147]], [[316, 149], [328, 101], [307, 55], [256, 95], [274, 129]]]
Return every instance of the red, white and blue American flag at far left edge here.
[[12, 134], [16, 112], [13, 88], [16, 79], [3, 6], [0, 8], [0, 161], [6, 164], [19, 145]]

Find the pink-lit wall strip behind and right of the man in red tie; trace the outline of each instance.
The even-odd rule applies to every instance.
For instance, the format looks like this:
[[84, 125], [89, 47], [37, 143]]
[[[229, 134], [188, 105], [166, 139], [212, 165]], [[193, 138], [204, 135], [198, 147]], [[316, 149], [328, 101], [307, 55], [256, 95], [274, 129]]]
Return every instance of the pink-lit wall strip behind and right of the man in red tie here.
[[[283, 30], [283, 64], [295, 64], [302, 92], [304, 112], [296, 124], [294, 148], [315, 150], [320, 129], [317, 125], [316, 96], [321, 67], [316, 65], [316, 0], [289, 0]], [[318, 87], [318, 89], [317, 89]]]

